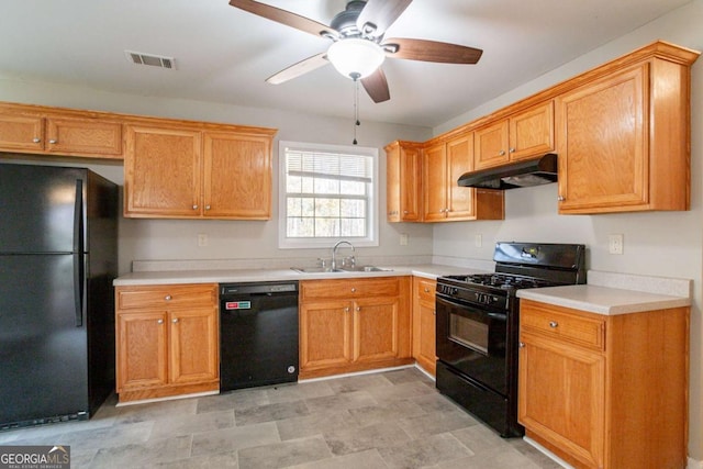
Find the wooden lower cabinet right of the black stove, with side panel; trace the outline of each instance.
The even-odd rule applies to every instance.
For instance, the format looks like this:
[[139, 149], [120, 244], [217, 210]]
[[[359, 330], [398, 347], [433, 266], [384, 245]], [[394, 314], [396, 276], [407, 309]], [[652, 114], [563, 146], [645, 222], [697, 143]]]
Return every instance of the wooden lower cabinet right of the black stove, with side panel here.
[[521, 300], [526, 435], [578, 468], [684, 468], [689, 314], [599, 315]]

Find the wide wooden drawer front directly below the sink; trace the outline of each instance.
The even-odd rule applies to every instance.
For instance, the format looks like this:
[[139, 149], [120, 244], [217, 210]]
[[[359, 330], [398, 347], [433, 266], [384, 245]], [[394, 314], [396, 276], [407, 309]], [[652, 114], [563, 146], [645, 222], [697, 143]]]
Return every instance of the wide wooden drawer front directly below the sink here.
[[400, 280], [393, 278], [313, 280], [300, 282], [301, 300], [398, 297]]

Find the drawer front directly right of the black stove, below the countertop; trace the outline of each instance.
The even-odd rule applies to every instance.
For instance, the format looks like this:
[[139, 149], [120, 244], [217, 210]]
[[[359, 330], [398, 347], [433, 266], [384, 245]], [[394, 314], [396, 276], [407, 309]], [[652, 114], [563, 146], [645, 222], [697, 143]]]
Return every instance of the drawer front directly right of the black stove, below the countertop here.
[[566, 309], [535, 305], [523, 301], [520, 309], [523, 332], [602, 350], [605, 346], [605, 320], [568, 312]]

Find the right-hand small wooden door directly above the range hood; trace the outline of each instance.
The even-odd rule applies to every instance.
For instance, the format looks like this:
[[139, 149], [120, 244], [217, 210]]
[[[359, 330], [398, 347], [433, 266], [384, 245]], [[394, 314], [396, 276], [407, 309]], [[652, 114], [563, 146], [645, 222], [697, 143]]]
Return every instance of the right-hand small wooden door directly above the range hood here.
[[510, 118], [510, 159], [554, 152], [554, 103], [549, 101]]

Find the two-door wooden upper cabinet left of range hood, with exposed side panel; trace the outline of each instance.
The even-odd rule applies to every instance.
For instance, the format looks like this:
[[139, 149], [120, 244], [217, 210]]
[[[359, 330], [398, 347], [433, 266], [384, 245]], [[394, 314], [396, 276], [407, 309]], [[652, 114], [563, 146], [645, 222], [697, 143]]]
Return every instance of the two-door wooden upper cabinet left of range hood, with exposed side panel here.
[[425, 222], [502, 220], [502, 191], [460, 187], [457, 180], [473, 168], [473, 134], [431, 144], [423, 150]]

